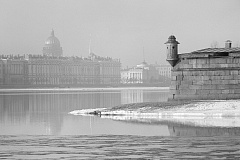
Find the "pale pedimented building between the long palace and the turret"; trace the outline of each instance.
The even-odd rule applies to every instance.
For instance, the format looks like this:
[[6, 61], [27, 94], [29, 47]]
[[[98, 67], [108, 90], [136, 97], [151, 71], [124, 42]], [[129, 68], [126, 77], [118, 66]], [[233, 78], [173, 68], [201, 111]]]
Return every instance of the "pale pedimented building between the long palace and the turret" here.
[[141, 64], [121, 71], [122, 84], [151, 83], [158, 80], [158, 71], [145, 61]]

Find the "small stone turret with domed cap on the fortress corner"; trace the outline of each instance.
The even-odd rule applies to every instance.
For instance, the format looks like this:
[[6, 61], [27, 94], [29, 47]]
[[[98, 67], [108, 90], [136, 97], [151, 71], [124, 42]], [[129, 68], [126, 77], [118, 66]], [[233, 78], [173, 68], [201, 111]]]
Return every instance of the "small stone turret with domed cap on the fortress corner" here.
[[168, 41], [165, 43], [167, 45], [167, 61], [172, 67], [174, 67], [178, 62], [178, 44], [174, 35], [169, 36]]

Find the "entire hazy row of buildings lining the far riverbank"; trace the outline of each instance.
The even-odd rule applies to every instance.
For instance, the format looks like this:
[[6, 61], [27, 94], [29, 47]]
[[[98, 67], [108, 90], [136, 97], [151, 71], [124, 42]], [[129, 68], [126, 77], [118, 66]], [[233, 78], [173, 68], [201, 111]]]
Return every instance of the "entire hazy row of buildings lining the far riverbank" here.
[[0, 55], [0, 85], [6, 87], [156, 84], [170, 76], [170, 65], [143, 62], [121, 70], [119, 59], [93, 53], [88, 58]]

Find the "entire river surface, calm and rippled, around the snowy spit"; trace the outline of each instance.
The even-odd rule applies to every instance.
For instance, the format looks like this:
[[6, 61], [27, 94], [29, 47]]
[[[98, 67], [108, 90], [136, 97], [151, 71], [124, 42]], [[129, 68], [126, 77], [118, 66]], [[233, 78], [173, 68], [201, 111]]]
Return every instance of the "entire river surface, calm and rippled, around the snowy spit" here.
[[74, 116], [166, 101], [167, 89], [0, 91], [0, 159], [240, 159], [240, 128]]

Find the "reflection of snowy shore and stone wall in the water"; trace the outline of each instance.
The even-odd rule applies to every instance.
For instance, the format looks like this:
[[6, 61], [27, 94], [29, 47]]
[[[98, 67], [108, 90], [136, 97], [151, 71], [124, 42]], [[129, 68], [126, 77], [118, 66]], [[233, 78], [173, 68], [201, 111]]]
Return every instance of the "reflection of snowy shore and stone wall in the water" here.
[[[171, 137], [214, 137], [214, 136], [240, 136], [240, 127], [197, 126], [161, 119], [134, 118], [125, 116], [102, 116], [122, 123], [147, 124], [152, 126], [165, 125]], [[160, 134], [160, 133], [159, 133]]]

